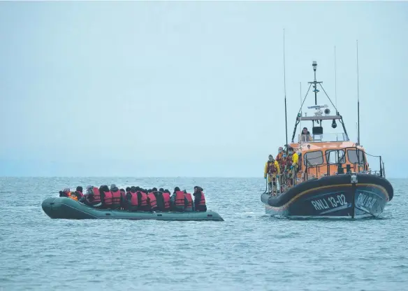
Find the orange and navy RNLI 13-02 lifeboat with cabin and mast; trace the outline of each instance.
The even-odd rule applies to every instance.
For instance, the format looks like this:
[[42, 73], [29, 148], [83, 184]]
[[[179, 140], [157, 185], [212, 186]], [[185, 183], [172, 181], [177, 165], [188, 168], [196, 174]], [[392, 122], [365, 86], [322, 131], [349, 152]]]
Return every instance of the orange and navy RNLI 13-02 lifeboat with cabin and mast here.
[[[381, 156], [369, 155], [365, 151], [359, 143], [359, 134], [357, 142], [349, 139], [342, 115], [333, 103], [335, 114], [330, 114], [327, 104], [317, 105], [317, 85], [322, 89], [323, 86], [322, 82], [316, 81], [316, 62], [312, 66], [314, 81], [309, 82], [309, 90], [313, 85], [315, 98], [314, 105], [308, 109], [314, 112], [303, 115], [300, 108], [291, 143], [285, 145], [286, 159], [293, 161], [294, 154], [289, 155], [292, 148], [298, 155], [298, 162], [292, 169], [281, 164], [275, 189], [270, 189], [267, 182], [266, 190], [261, 194], [265, 213], [302, 219], [377, 218], [393, 199], [393, 186], [386, 179], [384, 161]], [[324, 89], [323, 92], [326, 94]], [[307, 94], [303, 103], [306, 98]], [[302, 127], [305, 122], [312, 124], [309, 127], [312, 133], [308, 127]], [[333, 131], [339, 123], [341, 132], [337, 129], [337, 132], [326, 133], [323, 124], [327, 123], [331, 124]], [[298, 125], [301, 132], [295, 139]]]

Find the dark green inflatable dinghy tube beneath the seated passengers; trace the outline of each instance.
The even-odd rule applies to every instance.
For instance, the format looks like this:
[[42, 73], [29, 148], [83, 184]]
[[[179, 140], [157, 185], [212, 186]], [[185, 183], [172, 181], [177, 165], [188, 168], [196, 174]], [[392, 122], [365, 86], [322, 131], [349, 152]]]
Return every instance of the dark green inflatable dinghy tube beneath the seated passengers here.
[[98, 209], [66, 197], [48, 198], [41, 204], [50, 218], [61, 219], [127, 219], [174, 221], [224, 221], [214, 211], [205, 212], [150, 212]]

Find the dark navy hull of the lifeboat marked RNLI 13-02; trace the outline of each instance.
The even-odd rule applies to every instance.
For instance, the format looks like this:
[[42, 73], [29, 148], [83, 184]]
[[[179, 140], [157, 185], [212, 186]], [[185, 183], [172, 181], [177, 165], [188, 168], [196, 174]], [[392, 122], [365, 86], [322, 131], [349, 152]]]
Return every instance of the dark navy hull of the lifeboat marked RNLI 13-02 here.
[[377, 218], [391, 199], [388, 180], [360, 173], [307, 180], [277, 197], [261, 195], [266, 214], [299, 219]]

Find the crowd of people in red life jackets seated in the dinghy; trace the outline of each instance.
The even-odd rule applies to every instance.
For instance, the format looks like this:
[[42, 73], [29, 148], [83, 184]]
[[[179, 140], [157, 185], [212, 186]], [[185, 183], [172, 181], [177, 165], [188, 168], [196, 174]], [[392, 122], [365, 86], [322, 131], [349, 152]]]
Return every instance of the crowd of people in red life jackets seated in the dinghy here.
[[143, 189], [141, 187], [126, 187], [119, 189], [115, 184], [94, 187], [88, 185], [86, 193], [82, 194], [82, 187], [76, 187], [71, 192], [69, 188], [59, 191], [59, 197], [68, 197], [94, 208], [126, 210], [126, 211], [207, 211], [203, 188], [194, 187], [194, 199], [191, 193], [181, 191], [175, 187], [173, 194], [169, 190], [160, 188]]

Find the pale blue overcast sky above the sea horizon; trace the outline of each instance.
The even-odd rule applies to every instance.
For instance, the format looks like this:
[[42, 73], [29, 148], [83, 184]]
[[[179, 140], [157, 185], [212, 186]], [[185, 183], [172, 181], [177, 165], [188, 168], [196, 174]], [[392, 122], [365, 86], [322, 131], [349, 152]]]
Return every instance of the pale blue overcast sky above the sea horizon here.
[[284, 52], [289, 141], [313, 61], [356, 141], [358, 40], [360, 143], [408, 178], [407, 31], [402, 1], [3, 1], [0, 176], [262, 176]]

